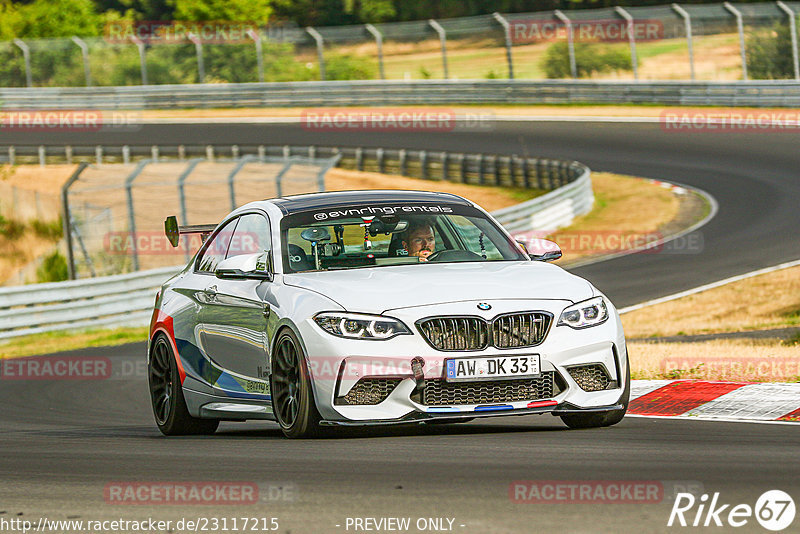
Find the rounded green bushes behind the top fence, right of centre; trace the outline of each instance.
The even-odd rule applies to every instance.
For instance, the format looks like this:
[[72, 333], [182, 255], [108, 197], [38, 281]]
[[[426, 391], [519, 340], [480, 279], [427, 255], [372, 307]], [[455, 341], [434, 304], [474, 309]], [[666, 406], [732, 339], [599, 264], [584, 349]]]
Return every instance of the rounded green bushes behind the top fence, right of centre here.
[[[548, 78], [570, 78], [569, 45], [559, 41], [548, 47], [542, 58], [542, 69]], [[599, 72], [632, 70], [630, 50], [608, 48], [591, 43], [575, 43], [575, 67], [578, 78]]]

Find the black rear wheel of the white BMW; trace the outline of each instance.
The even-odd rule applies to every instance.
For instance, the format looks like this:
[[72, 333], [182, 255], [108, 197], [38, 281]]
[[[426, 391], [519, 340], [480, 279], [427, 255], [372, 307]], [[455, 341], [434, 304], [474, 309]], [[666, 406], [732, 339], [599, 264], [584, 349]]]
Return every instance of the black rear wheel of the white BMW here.
[[199, 419], [189, 414], [175, 358], [167, 338], [163, 334], [156, 337], [147, 365], [156, 425], [165, 436], [213, 434], [219, 426], [218, 419]]

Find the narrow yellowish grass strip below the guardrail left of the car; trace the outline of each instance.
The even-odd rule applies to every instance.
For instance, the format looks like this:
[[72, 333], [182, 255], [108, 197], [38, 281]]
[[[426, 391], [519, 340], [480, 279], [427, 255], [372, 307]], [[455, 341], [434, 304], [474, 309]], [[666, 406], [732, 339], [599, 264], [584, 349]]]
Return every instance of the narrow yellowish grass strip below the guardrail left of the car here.
[[25, 336], [0, 345], [0, 359], [50, 354], [87, 347], [109, 347], [147, 341], [147, 327], [48, 332]]

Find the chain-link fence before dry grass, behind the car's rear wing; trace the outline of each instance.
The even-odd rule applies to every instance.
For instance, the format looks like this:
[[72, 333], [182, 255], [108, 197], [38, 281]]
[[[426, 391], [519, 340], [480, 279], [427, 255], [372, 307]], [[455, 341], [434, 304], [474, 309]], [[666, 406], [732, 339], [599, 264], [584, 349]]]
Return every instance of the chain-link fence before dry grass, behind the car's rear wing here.
[[81, 164], [63, 189], [68, 265], [72, 278], [181, 264], [201, 242], [173, 248], [164, 219], [182, 225], [219, 222], [242, 204], [323, 191], [337, 158], [244, 156], [186, 161], [139, 160]]

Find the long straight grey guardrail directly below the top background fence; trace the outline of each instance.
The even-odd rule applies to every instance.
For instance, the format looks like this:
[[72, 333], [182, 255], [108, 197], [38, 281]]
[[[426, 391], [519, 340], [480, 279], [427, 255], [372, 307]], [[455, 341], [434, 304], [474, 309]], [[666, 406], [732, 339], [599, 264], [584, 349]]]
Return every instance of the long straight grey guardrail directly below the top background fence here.
[[800, 82], [332, 81], [0, 89], [6, 109], [180, 109], [451, 104], [800, 106]]

